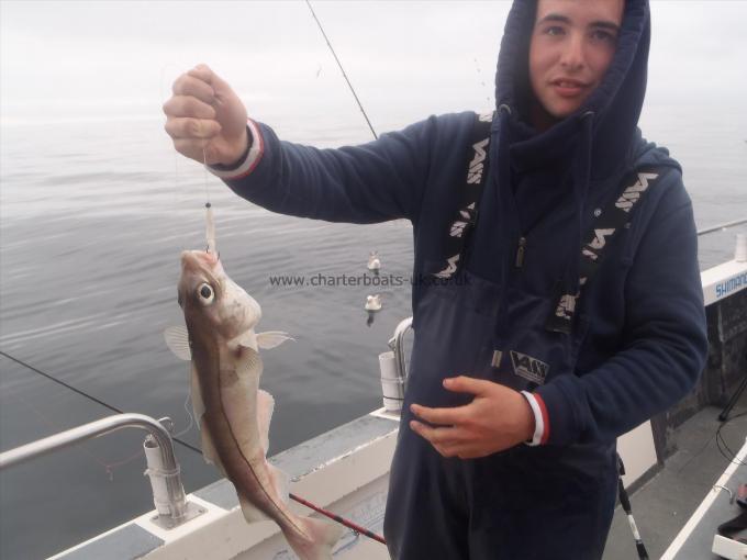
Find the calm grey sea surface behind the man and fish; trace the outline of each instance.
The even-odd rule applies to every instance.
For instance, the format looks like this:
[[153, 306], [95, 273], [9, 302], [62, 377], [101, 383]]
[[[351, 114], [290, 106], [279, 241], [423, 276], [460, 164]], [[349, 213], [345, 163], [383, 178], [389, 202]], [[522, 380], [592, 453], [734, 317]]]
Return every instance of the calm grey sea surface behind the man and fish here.
[[[643, 126], [683, 164], [699, 227], [747, 215], [744, 115], [714, 123], [654, 108]], [[357, 122], [277, 128], [321, 146], [368, 139]], [[280, 288], [269, 277], [365, 275], [375, 249], [384, 275], [406, 277], [408, 223], [271, 214], [176, 158], [155, 117], [0, 133], [0, 350], [119, 410], [170, 416], [179, 438], [198, 446], [188, 366], [161, 333], [182, 322], [179, 253], [204, 247], [207, 189], [226, 271], [263, 305], [258, 329], [297, 339], [263, 354], [263, 384], [277, 401], [270, 453], [380, 406], [377, 356], [411, 314], [409, 287]], [[701, 239], [702, 268], [731, 258], [735, 232]], [[363, 304], [376, 292], [384, 307], [369, 326]], [[4, 357], [0, 384], [0, 450], [112, 414]], [[142, 438], [119, 433], [0, 473], [0, 557], [42, 558], [153, 508]], [[218, 479], [198, 453], [176, 450], [188, 492]]]

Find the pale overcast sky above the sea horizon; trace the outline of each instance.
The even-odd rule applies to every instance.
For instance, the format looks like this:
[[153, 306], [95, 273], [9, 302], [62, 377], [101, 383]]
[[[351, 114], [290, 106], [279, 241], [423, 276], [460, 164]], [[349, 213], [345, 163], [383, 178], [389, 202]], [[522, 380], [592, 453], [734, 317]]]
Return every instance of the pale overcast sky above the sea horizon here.
[[[372, 121], [492, 107], [510, 2], [313, 5]], [[651, 5], [648, 104], [744, 111], [747, 0]], [[259, 117], [357, 113], [301, 1], [0, 2], [3, 124], [111, 115], [113, 107], [160, 119], [174, 78], [200, 61]]]

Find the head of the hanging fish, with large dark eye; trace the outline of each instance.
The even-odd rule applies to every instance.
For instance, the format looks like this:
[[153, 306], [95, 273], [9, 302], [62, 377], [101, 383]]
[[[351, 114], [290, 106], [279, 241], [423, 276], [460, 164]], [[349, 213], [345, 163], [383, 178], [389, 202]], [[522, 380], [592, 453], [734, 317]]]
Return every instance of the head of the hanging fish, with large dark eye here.
[[232, 339], [254, 328], [261, 317], [257, 301], [228, 278], [214, 253], [181, 254], [178, 293], [190, 336], [199, 328]]

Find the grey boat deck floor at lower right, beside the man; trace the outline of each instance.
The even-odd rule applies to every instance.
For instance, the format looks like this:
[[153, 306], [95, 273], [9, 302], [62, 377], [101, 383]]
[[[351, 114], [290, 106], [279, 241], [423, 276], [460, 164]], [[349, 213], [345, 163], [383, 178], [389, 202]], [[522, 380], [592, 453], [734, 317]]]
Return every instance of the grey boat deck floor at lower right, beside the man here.
[[[718, 407], [705, 407], [677, 428], [673, 437], [678, 450], [651, 480], [631, 496], [633, 516], [651, 559], [661, 558], [729, 464], [716, 445], [720, 413]], [[745, 444], [747, 391], [729, 414], [721, 436], [732, 455]], [[723, 445], [721, 447], [724, 448]], [[625, 512], [617, 506], [603, 560], [636, 558], [638, 555]]]

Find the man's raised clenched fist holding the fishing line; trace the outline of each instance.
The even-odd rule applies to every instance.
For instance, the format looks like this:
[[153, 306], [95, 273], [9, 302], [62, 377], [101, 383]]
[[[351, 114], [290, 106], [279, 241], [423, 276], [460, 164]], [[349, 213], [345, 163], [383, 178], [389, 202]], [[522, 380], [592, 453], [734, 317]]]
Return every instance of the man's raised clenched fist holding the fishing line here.
[[166, 132], [180, 154], [208, 165], [234, 165], [248, 145], [246, 108], [205, 65], [182, 74], [164, 103]]

